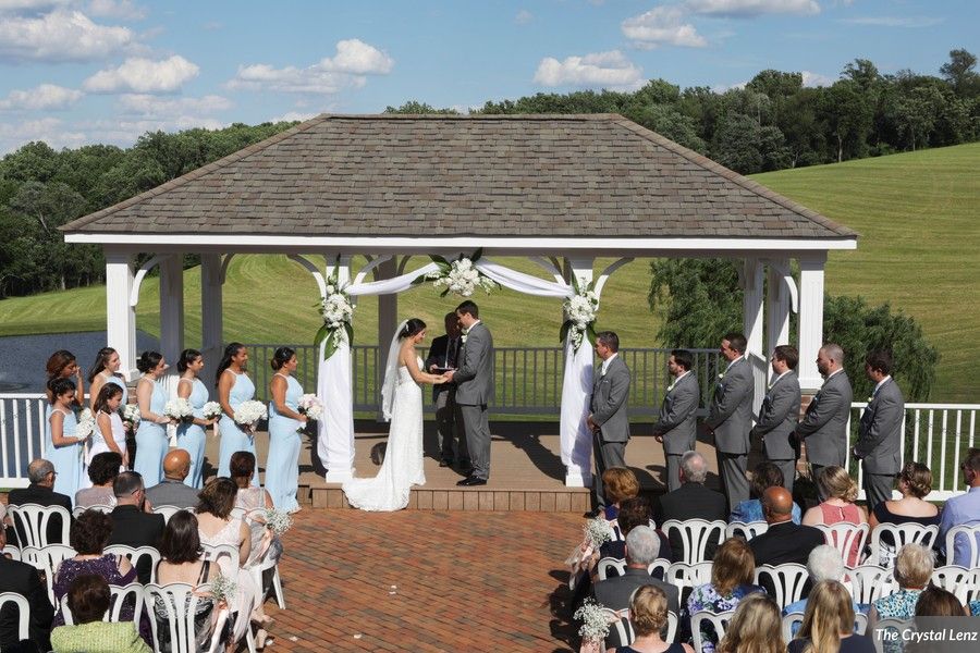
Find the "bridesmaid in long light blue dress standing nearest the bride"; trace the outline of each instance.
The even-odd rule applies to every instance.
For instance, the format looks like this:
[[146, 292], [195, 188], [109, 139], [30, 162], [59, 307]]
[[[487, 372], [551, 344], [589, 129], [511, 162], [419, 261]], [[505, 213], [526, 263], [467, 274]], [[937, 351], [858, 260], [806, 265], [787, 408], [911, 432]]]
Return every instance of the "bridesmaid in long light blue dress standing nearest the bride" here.
[[280, 510], [296, 513], [296, 491], [299, 488], [299, 432], [306, 416], [298, 411], [303, 386], [296, 372], [296, 352], [279, 347], [270, 364], [275, 373], [269, 390], [269, 457], [266, 459], [266, 490]]

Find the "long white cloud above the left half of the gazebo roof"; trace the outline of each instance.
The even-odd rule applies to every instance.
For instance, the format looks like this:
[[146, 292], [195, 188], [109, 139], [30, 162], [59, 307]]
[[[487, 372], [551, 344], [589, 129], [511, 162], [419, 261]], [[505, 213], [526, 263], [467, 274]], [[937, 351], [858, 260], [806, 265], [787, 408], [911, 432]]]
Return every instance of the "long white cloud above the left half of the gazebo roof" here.
[[338, 41], [336, 54], [326, 57], [304, 69], [273, 67], [256, 63], [238, 67], [226, 86], [233, 89], [259, 90], [269, 88], [284, 93], [334, 94], [344, 88], [360, 88], [367, 75], [387, 75], [394, 59], [356, 38]]

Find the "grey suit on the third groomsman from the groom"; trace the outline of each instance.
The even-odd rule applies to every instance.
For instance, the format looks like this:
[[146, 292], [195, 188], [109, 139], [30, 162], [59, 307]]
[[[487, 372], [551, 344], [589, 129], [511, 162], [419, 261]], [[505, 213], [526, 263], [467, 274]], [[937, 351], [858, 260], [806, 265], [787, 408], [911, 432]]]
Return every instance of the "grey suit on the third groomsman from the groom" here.
[[749, 497], [749, 431], [752, 428], [752, 402], [756, 381], [752, 367], [745, 357], [731, 364], [714, 387], [708, 427], [714, 431], [718, 470], [728, 498], [728, 510]]

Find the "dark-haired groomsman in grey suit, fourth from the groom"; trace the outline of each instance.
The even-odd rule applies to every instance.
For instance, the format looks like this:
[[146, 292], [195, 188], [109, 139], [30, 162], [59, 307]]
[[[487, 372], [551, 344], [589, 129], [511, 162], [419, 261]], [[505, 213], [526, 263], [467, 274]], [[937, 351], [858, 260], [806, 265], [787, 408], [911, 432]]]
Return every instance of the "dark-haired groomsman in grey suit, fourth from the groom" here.
[[[751, 435], [762, 438], [765, 458], [783, 472], [783, 486], [793, 494], [796, 459], [799, 457], [793, 432], [799, 422], [799, 379], [796, 365], [799, 353], [792, 345], [780, 345], [772, 352], [774, 378], [756, 418]], [[792, 439], [792, 440], [791, 440]]]

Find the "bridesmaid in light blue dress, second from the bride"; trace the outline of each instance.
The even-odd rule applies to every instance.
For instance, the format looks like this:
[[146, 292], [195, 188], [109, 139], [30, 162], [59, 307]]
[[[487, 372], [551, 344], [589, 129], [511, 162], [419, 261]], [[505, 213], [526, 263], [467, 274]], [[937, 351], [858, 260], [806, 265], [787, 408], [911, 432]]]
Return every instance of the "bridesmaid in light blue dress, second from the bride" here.
[[[218, 364], [215, 382], [218, 385], [218, 403], [221, 404], [221, 446], [218, 452], [218, 476], [231, 478], [231, 456], [235, 452], [255, 455], [255, 436], [249, 435], [235, 423], [235, 408], [255, 396], [255, 383], [246, 371], [248, 349], [242, 343], [231, 343], [224, 347], [224, 356]], [[258, 479], [252, 479], [258, 485]]]

